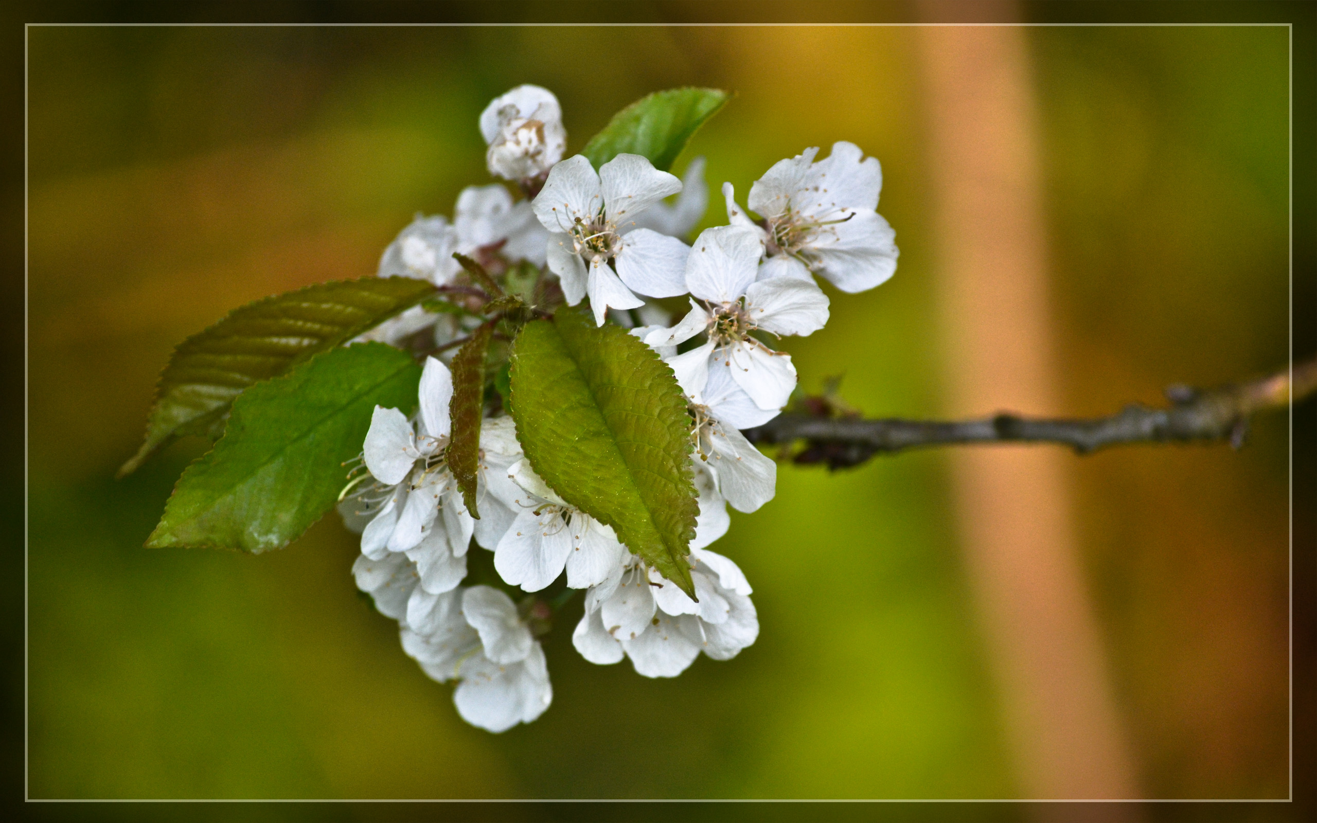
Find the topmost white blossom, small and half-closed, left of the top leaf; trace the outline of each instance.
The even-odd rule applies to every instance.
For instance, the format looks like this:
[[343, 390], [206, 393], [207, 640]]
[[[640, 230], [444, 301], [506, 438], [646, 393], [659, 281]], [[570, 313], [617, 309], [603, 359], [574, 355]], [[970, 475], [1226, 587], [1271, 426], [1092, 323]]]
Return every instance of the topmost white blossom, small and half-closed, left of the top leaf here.
[[490, 174], [504, 180], [529, 180], [547, 173], [566, 149], [558, 99], [539, 86], [518, 86], [495, 97], [481, 112], [481, 134], [489, 150]]

